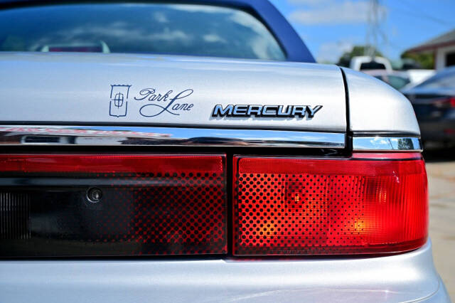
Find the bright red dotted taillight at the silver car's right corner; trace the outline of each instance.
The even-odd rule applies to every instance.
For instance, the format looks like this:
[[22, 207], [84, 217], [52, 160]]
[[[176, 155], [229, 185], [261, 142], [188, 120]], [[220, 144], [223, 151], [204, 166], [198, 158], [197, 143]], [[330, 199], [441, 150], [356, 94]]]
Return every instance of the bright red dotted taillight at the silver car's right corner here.
[[400, 252], [427, 239], [420, 154], [235, 156], [234, 255]]

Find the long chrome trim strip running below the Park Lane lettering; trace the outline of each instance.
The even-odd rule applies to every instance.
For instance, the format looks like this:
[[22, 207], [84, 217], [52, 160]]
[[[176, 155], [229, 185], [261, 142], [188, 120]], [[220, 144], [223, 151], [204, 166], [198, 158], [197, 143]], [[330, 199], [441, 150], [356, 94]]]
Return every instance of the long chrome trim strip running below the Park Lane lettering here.
[[149, 145], [189, 147], [320, 147], [343, 149], [346, 135], [259, 129], [178, 127], [0, 126], [0, 145]]

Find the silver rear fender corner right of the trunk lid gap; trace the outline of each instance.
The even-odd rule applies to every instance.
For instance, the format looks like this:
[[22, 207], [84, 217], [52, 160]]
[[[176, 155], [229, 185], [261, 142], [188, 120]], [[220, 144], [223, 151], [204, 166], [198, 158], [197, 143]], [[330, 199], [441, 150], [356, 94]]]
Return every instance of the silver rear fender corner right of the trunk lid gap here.
[[348, 86], [350, 132], [420, 136], [411, 102], [402, 93], [364, 73], [348, 68], [343, 72]]

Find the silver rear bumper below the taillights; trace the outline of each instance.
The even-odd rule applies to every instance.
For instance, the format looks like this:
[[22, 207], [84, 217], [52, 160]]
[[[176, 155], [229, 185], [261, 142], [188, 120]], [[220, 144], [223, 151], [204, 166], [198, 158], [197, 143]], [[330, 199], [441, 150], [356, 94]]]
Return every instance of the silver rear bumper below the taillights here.
[[10, 303], [422, 299], [449, 300], [434, 269], [429, 242], [412, 252], [385, 257], [0, 262], [0, 301]]

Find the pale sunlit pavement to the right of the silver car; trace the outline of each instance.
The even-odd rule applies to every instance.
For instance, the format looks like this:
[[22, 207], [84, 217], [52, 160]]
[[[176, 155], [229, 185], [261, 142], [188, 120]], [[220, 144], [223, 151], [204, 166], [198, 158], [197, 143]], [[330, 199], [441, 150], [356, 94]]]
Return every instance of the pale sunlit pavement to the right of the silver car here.
[[429, 236], [434, 265], [455, 300], [455, 149], [429, 151]]

